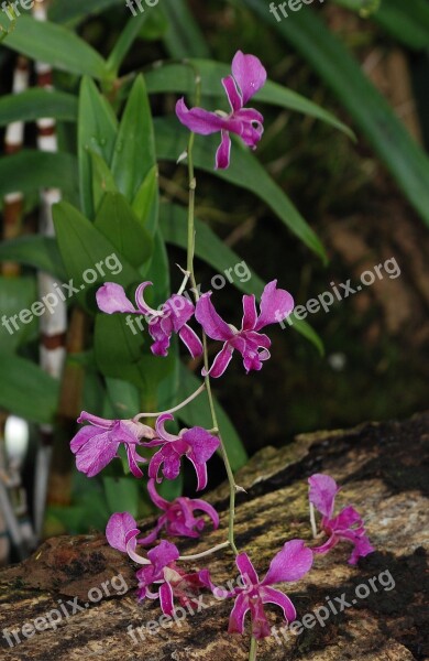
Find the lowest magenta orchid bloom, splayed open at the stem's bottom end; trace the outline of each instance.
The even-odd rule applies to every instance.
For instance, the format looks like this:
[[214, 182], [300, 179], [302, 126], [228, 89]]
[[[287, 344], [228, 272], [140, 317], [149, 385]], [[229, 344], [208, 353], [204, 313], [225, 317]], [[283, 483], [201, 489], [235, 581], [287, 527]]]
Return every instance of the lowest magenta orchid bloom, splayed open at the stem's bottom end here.
[[235, 557], [245, 587], [235, 587], [229, 597], [235, 596], [229, 621], [229, 633], [243, 633], [244, 619], [250, 610], [252, 618], [252, 635], [255, 638], [271, 636], [271, 628], [264, 613], [264, 604], [276, 604], [283, 610], [287, 622], [296, 619], [294, 604], [283, 592], [272, 587], [275, 583], [298, 581], [311, 568], [312, 552], [305, 546], [302, 540], [286, 542], [271, 561], [270, 568], [263, 581], [260, 581], [256, 571], [246, 553]]

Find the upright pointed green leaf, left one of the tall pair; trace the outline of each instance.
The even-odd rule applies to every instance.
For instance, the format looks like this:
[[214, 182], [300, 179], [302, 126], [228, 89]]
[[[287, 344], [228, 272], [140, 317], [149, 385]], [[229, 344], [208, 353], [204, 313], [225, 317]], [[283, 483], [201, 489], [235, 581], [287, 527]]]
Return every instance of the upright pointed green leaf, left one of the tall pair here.
[[85, 77], [79, 95], [78, 152], [80, 203], [87, 218], [92, 219], [95, 216], [90, 152], [110, 164], [117, 132], [118, 122], [113, 110], [94, 82]]

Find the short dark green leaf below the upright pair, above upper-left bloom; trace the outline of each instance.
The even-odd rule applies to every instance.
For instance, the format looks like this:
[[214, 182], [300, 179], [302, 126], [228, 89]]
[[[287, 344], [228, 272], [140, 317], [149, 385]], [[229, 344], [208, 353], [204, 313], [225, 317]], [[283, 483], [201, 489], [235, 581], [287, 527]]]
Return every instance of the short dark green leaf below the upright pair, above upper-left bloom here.
[[132, 267], [139, 268], [151, 258], [152, 237], [120, 193], [106, 193], [94, 226]]

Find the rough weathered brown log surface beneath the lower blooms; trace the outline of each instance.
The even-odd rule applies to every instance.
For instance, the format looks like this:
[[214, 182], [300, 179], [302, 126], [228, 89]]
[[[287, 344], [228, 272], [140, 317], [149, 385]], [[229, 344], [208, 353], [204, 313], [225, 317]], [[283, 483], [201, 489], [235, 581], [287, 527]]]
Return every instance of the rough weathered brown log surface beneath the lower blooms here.
[[[350, 607], [331, 614], [323, 627], [316, 622], [299, 636], [286, 632], [286, 640], [280, 633], [277, 640], [275, 636], [264, 640], [258, 646], [257, 659], [407, 661], [428, 658], [425, 637], [429, 627], [424, 610], [428, 595], [427, 584], [425, 587], [429, 530], [425, 446], [428, 440], [429, 414], [425, 413], [400, 423], [369, 423], [349, 431], [299, 436], [283, 449], [263, 449], [240, 472], [237, 481], [246, 494], [238, 497], [237, 543], [239, 549], [249, 552], [262, 575], [288, 539], [304, 538], [311, 543], [307, 477], [316, 472], [328, 473], [343, 485], [338, 507], [353, 503], [362, 512], [377, 549], [356, 567], [346, 563], [350, 552], [346, 544], [338, 545], [324, 557], [318, 556], [302, 581], [287, 586], [298, 618], [320, 606], [326, 607], [328, 598], [340, 610], [343, 594], [342, 604], [345, 599]], [[221, 513], [220, 529], [206, 532], [197, 543], [180, 541], [184, 554], [198, 553], [226, 539], [227, 495], [222, 485], [209, 496]], [[145, 527], [148, 529], [151, 522], [145, 521]], [[206, 564], [219, 585], [237, 577], [229, 552], [217, 553]], [[189, 568], [197, 565], [189, 563]], [[127, 583], [127, 593], [119, 595], [122, 589], [116, 592], [110, 587], [111, 597], [85, 607], [88, 590], [101, 588], [103, 582], [119, 573]], [[384, 586], [392, 586], [389, 576], [395, 587], [385, 589]], [[371, 578], [377, 586], [376, 592], [369, 583]], [[136, 627], [158, 620], [161, 610], [156, 603], [139, 605], [134, 589], [133, 564], [111, 550], [102, 535], [48, 540], [30, 560], [0, 573], [0, 632], [8, 631], [14, 643], [10, 647], [4, 636], [0, 638], [0, 659], [248, 659], [248, 636], [227, 635], [231, 600], [216, 600], [207, 594], [204, 597], [207, 608], [170, 627], [162, 627], [156, 633], [144, 628], [143, 640]], [[89, 594], [97, 597], [98, 592]], [[75, 607], [74, 615], [70, 615], [72, 604], [80, 607]], [[35, 632], [33, 627], [28, 627], [25, 631], [30, 637], [25, 638], [21, 630], [26, 622], [34, 624], [35, 618], [62, 606], [68, 617], [62, 617], [56, 630]], [[271, 624], [278, 631], [283, 626], [278, 609], [268, 606], [267, 610]], [[138, 642], [128, 633], [130, 626]], [[20, 629], [16, 636], [21, 643], [13, 638], [13, 629]]]

